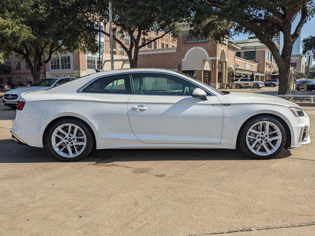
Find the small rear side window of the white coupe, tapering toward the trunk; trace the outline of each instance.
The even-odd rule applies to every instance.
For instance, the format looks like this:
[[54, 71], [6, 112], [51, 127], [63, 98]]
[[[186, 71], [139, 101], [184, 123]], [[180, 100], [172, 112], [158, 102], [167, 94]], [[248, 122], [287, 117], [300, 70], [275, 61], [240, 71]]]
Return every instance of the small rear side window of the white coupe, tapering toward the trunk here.
[[128, 75], [106, 76], [95, 80], [83, 92], [129, 94], [129, 85]]

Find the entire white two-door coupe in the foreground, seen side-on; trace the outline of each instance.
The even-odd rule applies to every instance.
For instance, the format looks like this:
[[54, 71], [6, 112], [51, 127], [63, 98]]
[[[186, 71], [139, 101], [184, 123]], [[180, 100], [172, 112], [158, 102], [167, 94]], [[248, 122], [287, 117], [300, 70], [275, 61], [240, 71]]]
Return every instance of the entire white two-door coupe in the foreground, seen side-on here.
[[171, 70], [127, 69], [22, 92], [11, 133], [64, 161], [93, 148], [241, 148], [267, 159], [310, 143], [309, 126], [282, 98], [221, 92]]

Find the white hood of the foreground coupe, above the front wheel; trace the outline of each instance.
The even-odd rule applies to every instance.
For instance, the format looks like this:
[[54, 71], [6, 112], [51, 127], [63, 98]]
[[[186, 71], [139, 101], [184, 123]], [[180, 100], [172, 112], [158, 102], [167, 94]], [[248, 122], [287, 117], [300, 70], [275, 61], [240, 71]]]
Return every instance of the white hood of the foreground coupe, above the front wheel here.
[[273, 104], [284, 107], [299, 107], [297, 104], [290, 102], [284, 98], [248, 93], [248, 92], [230, 92], [220, 96], [221, 103], [223, 104]]

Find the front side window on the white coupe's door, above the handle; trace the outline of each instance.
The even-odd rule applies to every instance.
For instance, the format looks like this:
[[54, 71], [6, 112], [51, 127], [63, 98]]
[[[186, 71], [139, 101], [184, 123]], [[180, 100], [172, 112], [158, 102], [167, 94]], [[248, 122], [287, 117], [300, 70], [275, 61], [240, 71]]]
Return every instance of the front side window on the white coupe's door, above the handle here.
[[150, 95], [191, 95], [197, 86], [171, 75], [137, 73], [131, 75], [134, 94]]

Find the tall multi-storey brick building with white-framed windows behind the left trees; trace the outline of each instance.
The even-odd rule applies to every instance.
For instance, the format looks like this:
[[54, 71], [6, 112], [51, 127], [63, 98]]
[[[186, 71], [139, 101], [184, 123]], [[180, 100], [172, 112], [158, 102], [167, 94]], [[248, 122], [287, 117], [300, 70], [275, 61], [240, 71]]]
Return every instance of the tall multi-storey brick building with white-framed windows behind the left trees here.
[[[105, 26], [101, 24], [101, 29], [109, 32], [109, 24]], [[135, 32], [136, 34], [137, 32]], [[158, 33], [158, 36], [162, 35], [162, 32]], [[148, 37], [157, 37], [156, 33], [149, 32]], [[130, 35], [117, 35], [120, 40], [124, 41], [125, 46], [128, 48], [130, 44]], [[95, 55], [92, 54], [83, 54], [79, 51], [74, 53], [67, 53], [65, 55], [55, 55], [52, 59], [43, 66], [41, 71], [40, 78], [45, 77], [58, 77], [58, 76], [75, 76], [81, 77], [91, 73], [95, 73], [97, 70], [110, 70], [110, 44], [109, 37], [100, 33], [96, 40], [99, 42], [100, 39], [100, 59], [98, 53]], [[142, 39], [144, 40], [144, 39]], [[172, 38], [170, 34], [166, 34], [162, 38], [158, 39], [156, 42], [153, 42], [146, 47], [141, 48], [140, 50], [146, 49], [162, 49], [162, 48], [175, 48], [177, 46], [176, 40]], [[129, 68], [129, 60], [126, 55], [126, 52], [123, 48], [113, 40], [113, 53], [114, 53], [114, 68], [122, 69]], [[45, 56], [44, 56], [45, 57]], [[9, 65], [12, 69], [12, 73], [6, 75], [0, 75], [0, 83], [8, 84], [20, 84], [20, 83], [32, 83], [32, 75], [27, 67], [25, 61], [16, 58], [14, 55], [11, 55], [8, 59], [4, 59], [5, 63]]]

